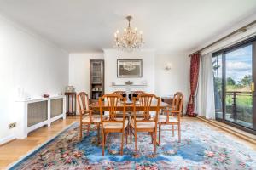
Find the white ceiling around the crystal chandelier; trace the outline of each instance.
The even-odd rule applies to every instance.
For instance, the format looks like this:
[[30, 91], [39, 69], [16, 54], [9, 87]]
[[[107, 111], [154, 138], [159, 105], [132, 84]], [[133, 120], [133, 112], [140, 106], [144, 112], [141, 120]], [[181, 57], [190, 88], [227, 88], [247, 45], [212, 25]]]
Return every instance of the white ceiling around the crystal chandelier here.
[[0, 0], [0, 11], [69, 52], [113, 48], [132, 14], [145, 48], [187, 54], [255, 13], [256, 0]]

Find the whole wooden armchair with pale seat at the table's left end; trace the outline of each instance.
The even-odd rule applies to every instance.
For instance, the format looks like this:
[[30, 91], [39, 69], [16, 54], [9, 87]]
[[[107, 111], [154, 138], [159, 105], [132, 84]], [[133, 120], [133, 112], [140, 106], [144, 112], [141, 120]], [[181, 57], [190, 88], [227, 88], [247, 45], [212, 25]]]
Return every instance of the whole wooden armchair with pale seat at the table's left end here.
[[100, 143], [100, 123], [101, 116], [93, 115], [94, 111], [89, 108], [89, 97], [85, 92], [80, 92], [77, 95], [77, 103], [79, 105], [79, 115], [80, 115], [80, 127], [79, 127], [79, 137], [80, 140], [83, 138], [83, 125], [87, 125], [87, 135], [89, 135], [90, 125], [96, 124], [97, 127], [97, 136], [98, 136], [98, 144]]

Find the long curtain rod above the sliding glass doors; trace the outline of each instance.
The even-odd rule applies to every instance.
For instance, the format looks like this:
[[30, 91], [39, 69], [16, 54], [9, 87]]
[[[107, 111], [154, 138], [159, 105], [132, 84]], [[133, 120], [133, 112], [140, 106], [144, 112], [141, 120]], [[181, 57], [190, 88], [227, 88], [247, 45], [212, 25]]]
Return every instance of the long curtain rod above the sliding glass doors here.
[[[196, 51], [196, 52], [193, 53], [193, 54], [200, 53], [201, 51], [203, 51], [203, 50], [205, 50], [205, 49], [207, 49], [207, 48], [212, 47], [212, 45], [214, 45], [214, 44], [216, 44], [216, 43], [218, 43], [218, 42], [221, 42], [221, 41], [223, 41], [224, 39], [226, 39], [227, 37], [231, 37], [231, 36], [235, 35], [235, 34], [238, 33], [238, 32], [246, 32], [246, 31], [247, 31], [247, 27], [253, 26], [254, 24], [256, 24], [256, 20], [253, 20], [253, 22], [247, 24], [246, 26], [242, 26], [241, 28], [237, 29], [236, 31], [232, 31], [230, 34], [228, 34], [228, 35], [226, 35], [226, 36], [224, 36], [224, 37], [218, 39], [218, 40], [215, 41], [215, 42], [210, 43], [210, 44], [207, 45], [206, 47], [201, 48], [200, 50]], [[191, 55], [192, 55], [192, 54], [190, 54], [189, 57], [190, 57]]]

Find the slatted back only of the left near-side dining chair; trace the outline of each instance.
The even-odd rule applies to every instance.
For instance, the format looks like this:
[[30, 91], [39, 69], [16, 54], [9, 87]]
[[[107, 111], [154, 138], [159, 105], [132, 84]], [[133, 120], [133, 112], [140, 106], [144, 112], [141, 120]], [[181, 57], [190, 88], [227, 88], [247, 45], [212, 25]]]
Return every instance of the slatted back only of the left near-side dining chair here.
[[[105, 94], [101, 98], [99, 98], [99, 106], [100, 106], [100, 112], [101, 112], [101, 122], [125, 122], [125, 103], [126, 102], [120, 102], [120, 101], [126, 101], [126, 98], [119, 94]], [[103, 109], [102, 107], [107, 106], [109, 116], [108, 119], [103, 119]], [[123, 120], [117, 119], [117, 113], [119, 111], [117, 110], [118, 107], [123, 108]]]

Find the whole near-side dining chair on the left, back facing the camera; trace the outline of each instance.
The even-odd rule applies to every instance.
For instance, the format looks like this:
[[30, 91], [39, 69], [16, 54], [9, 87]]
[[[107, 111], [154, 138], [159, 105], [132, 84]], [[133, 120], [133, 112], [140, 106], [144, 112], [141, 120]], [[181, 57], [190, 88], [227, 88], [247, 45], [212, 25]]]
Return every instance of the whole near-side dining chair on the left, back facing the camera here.
[[[121, 102], [121, 100], [124, 102]], [[127, 143], [128, 127], [128, 121], [125, 119], [125, 101], [126, 98], [119, 94], [105, 94], [101, 98], [99, 98], [102, 124], [102, 156], [104, 156], [104, 147], [106, 144], [108, 133], [122, 133], [120, 155], [123, 155], [124, 136], [126, 137]], [[103, 118], [103, 107], [108, 108], [108, 119]], [[122, 118], [117, 117], [118, 107], [122, 108]]]

